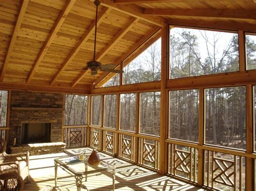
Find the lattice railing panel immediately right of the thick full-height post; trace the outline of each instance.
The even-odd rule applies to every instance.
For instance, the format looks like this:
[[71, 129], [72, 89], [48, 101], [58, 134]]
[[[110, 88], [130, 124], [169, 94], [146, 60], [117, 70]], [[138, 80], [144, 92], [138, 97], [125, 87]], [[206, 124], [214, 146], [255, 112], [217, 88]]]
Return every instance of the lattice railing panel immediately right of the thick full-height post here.
[[169, 173], [197, 182], [198, 148], [169, 144]]

